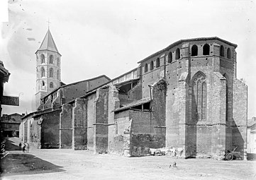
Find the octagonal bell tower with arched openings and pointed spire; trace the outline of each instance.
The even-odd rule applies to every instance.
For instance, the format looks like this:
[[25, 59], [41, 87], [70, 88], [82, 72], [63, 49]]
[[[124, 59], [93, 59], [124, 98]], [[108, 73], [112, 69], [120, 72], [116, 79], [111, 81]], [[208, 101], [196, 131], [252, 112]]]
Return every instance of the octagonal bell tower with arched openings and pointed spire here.
[[35, 110], [40, 106], [41, 98], [48, 95], [55, 88], [60, 87], [60, 57], [52, 34], [48, 28], [45, 38], [36, 54], [36, 87]]

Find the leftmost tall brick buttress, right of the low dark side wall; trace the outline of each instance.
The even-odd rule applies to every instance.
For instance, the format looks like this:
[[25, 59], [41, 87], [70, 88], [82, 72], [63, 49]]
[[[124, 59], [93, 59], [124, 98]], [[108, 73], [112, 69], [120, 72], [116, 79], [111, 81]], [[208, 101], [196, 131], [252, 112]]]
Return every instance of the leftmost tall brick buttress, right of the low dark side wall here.
[[72, 148], [72, 105], [63, 104], [60, 113], [60, 148]]

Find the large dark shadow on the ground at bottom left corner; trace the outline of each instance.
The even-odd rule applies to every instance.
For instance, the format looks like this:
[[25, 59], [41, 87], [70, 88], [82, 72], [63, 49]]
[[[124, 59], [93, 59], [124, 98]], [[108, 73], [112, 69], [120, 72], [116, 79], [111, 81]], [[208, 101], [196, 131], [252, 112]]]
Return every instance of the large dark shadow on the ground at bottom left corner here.
[[9, 154], [1, 160], [1, 176], [63, 172], [62, 167], [30, 154]]

